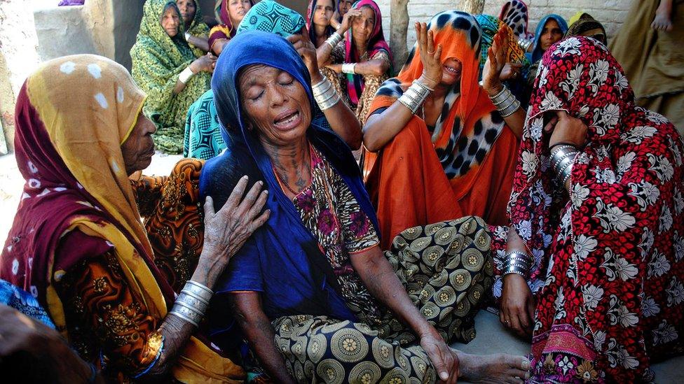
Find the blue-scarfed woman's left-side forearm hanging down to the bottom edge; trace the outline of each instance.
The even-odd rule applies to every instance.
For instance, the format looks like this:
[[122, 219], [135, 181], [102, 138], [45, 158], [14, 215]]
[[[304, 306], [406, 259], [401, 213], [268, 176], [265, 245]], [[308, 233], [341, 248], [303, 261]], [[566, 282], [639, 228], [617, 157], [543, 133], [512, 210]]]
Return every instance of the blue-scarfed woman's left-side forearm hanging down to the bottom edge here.
[[276, 383], [295, 383], [285, 368], [278, 346], [275, 345], [275, 331], [266, 313], [261, 309], [259, 292], [231, 293], [235, 320], [245, 332], [249, 347], [257, 354], [261, 366]]

